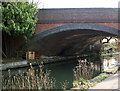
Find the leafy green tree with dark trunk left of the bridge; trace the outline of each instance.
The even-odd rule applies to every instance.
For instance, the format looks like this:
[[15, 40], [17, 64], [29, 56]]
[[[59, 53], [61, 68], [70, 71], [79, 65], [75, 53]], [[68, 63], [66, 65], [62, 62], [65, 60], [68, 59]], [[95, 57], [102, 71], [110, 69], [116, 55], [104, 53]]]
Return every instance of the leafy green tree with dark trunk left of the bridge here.
[[38, 20], [36, 16], [37, 12], [37, 3], [2, 2], [4, 54], [9, 57], [12, 56], [11, 54], [13, 54], [14, 51], [10, 47], [15, 45], [13, 45], [14, 42], [11, 41], [14, 41], [16, 36], [22, 36], [27, 39], [34, 35], [36, 22]]

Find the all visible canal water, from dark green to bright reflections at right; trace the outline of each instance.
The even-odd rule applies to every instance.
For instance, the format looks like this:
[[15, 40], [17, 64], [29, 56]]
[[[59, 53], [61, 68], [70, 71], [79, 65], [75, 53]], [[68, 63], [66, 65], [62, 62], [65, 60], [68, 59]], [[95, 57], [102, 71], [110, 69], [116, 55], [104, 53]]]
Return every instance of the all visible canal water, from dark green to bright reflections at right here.
[[[118, 56], [114, 57], [88, 57], [86, 58], [90, 61], [94, 66], [94, 74], [93, 77], [97, 76], [101, 73], [101, 71], [106, 70], [110, 67], [113, 67], [117, 64]], [[72, 82], [74, 81], [73, 69], [77, 65], [77, 60], [70, 61], [69, 63], [61, 63], [61, 64], [52, 64], [45, 65], [45, 69], [51, 70], [50, 77], [55, 78], [56, 80], [56, 88], [61, 89], [61, 86], [64, 81], [69, 82], [67, 88], [72, 87]], [[12, 69], [11, 74], [18, 74], [18, 71], [27, 72], [29, 67]], [[34, 66], [34, 69], [38, 69], [38, 66]], [[38, 73], [37, 73], [38, 74]], [[3, 75], [8, 76], [7, 71], [3, 71]]]

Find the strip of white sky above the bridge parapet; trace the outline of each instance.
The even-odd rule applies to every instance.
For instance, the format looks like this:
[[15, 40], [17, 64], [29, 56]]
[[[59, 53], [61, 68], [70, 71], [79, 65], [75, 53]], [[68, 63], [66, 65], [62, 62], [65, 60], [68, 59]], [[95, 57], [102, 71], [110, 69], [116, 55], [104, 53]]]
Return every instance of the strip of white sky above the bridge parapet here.
[[120, 0], [34, 0], [38, 8], [118, 8]]

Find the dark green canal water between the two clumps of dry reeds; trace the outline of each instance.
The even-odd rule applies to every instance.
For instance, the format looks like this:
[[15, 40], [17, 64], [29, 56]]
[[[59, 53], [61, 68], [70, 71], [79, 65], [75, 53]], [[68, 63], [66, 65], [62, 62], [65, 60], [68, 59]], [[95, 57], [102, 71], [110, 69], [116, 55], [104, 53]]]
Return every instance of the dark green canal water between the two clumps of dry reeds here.
[[76, 65], [77, 65], [77, 62], [72, 61], [67, 64], [54, 65], [47, 68], [48, 70], [51, 70], [50, 76], [56, 79], [56, 87], [58, 89], [61, 88], [64, 81], [69, 82], [68, 88], [72, 87], [72, 82], [74, 79], [73, 69]]

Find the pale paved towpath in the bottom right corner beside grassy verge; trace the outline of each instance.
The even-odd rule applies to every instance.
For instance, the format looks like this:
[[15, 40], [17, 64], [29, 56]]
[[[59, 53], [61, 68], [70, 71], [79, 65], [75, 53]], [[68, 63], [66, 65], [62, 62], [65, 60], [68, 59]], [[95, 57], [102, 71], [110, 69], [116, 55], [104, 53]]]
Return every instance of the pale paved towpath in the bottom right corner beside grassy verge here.
[[120, 72], [111, 75], [90, 89], [120, 89]]

